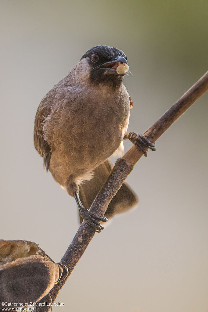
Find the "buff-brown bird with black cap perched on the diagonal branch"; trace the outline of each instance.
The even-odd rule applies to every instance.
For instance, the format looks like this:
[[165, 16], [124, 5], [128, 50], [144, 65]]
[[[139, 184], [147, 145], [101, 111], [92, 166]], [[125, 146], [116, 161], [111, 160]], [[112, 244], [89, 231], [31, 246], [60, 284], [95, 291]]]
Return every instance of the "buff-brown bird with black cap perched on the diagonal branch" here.
[[[117, 48], [90, 48], [46, 94], [38, 106], [34, 145], [43, 157], [46, 171], [74, 197], [80, 222], [95, 232], [103, 222], [133, 207], [138, 198], [123, 183], [104, 215], [89, 208], [113, 166], [109, 157], [123, 154], [123, 140], [129, 139], [147, 156], [155, 143], [136, 132], [127, 133], [133, 101], [123, 84], [129, 69], [127, 56]], [[108, 218], [107, 218], [108, 217]]]

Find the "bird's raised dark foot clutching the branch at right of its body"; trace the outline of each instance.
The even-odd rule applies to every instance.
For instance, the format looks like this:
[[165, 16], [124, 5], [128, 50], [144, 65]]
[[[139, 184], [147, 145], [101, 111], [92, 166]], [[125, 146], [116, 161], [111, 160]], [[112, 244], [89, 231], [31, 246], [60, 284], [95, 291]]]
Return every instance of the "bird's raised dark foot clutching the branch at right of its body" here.
[[140, 151], [143, 152], [144, 156], [147, 157], [147, 151], [145, 148], [151, 149], [152, 151], [156, 151], [156, 143], [150, 142], [148, 138], [146, 138], [142, 134], [138, 134], [136, 132], [126, 133], [123, 137], [123, 140], [129, 139]]

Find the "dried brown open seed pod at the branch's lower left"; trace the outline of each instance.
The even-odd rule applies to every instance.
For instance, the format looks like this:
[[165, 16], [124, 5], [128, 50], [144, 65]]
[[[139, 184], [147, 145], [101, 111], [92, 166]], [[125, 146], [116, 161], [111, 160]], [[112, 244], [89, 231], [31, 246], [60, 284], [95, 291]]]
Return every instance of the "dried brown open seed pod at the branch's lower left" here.
[[67, 275], [36, 243], [0, 240], [0, 304], [36, 302]]

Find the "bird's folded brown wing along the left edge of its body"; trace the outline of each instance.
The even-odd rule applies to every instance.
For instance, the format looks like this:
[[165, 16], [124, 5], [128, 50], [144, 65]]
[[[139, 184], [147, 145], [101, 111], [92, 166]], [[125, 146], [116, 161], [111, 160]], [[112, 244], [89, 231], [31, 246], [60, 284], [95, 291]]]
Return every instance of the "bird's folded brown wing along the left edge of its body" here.
[[44, 139], [42, 124], [45, 117], [50, 114], [51, 104], [52, 101], [46, 95], [37, 109], [34, 127], [34, 145], [38, 153], [43, 157], [44, 169], [47, 171], [51, 158], [51, 147]]

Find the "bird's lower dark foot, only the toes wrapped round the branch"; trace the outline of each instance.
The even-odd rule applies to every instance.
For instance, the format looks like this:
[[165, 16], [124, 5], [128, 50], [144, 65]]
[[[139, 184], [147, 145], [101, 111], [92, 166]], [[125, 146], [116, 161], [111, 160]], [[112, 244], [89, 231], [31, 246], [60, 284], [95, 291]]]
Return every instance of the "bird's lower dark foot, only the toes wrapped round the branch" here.
[[99, 217], [98, 215], [96, 215], [96, 213], [89, 211], [89, 209], [85, 207], [80, 207], [79, 212], [83, 220], [98, 233], [100, 233], [101, 230], [104, 229], [104, 227], [100, 224], [99, 221], [102, 222], [108, 221], [106, 217]]

